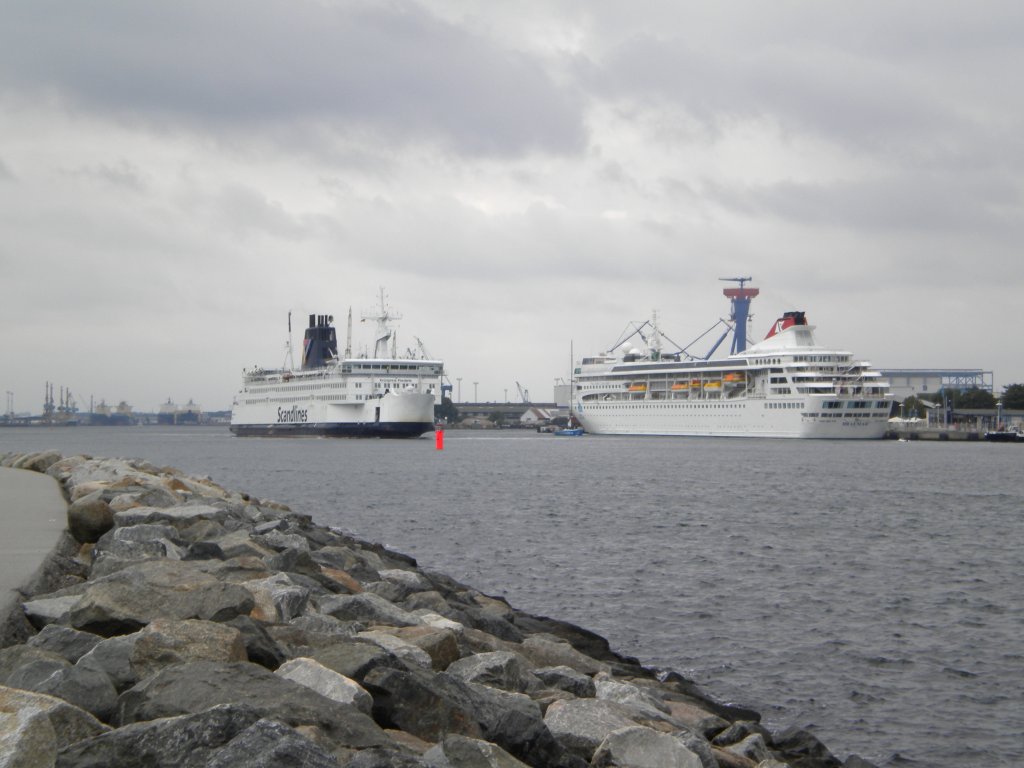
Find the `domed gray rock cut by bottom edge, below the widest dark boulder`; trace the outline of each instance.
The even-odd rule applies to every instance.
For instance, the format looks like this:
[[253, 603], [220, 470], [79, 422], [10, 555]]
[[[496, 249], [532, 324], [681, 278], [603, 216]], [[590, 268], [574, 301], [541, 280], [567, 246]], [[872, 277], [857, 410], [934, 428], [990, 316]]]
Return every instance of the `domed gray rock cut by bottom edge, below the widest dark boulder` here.
[[293, 728], [258, 720], [218, 750], [206, 768], [338, 768], [338, 760]]

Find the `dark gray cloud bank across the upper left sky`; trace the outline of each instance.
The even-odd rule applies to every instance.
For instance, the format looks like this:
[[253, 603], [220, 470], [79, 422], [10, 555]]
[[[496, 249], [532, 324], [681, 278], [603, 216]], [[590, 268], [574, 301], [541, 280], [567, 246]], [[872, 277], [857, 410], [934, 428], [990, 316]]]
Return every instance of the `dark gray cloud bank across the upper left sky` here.
[[[526, 56], [412, 4], [6, 2], [0, 82], [124, 120], [433, 140], [470, 155], [578, 152], [579, 99]], [[222, 126], [223, 127], [223, 126]]]

